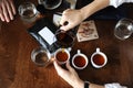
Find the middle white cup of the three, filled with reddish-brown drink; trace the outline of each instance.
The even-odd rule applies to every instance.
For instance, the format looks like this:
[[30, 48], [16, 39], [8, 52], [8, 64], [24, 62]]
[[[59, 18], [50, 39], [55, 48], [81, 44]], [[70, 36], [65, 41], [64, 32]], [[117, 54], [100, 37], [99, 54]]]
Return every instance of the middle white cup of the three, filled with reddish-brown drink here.
[[76, 69], [83, 69], [88, 66], [88, 57], [78, 50], [78, 53], [72, 57], [72, 65]]

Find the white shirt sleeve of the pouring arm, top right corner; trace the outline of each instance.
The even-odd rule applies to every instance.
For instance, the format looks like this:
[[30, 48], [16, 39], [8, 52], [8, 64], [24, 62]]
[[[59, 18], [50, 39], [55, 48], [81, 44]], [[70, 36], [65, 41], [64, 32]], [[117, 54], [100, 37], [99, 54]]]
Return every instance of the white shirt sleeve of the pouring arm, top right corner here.
[[133, 0], [110, 0], [110, 6], [117, 8], [124, 2], [129, 3], [129, 2], [133, 2]]

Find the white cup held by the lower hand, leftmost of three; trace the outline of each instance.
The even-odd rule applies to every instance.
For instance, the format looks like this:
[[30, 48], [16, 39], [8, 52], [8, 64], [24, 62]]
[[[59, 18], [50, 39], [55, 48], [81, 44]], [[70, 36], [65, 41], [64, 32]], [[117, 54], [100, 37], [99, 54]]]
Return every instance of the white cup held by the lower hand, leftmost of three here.
[[55, 51], [54, 58], [60, 65], [65, 64], [70, 59], [70, 51], [71, 48], [59, 48]]

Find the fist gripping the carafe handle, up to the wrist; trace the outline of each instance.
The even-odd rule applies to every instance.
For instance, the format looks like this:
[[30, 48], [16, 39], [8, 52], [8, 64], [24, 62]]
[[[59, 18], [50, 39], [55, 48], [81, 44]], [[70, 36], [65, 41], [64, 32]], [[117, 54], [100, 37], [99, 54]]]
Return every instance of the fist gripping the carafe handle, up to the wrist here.
[[[82, 12], [80, 10], [68, 9], [63, 11], [60, 24], [60, 29], [68, 31], [80, 24], [84, 20]], [[65, 24], [65, 22], [68, 24]]]

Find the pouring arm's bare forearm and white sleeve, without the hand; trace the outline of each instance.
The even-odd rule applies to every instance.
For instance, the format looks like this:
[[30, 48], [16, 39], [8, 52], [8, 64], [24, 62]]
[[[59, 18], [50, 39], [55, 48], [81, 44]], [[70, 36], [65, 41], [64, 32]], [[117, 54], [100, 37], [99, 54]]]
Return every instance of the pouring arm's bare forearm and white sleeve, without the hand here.
[[81, 13], [83, 14], [82, 15], [83, 19], [86, 19], [88, 16], [92, 15], [96, 11], [106, 8], [108, 6], [113, 6], [117, 8], [119, 6], [125, 2], [130, 3], [130, 2], [133, 2], [133, 0], [94, 0], [93, 2], [83, 7], [80, 10], [81, 10]]

